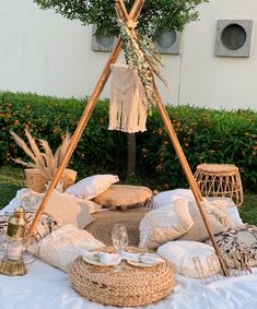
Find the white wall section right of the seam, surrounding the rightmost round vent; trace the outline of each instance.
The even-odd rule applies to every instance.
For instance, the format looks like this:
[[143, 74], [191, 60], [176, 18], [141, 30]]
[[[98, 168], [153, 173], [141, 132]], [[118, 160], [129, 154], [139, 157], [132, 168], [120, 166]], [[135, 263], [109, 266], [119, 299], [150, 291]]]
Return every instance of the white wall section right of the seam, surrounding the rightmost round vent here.
[[[257, 1], [210, 0], [184, 32], [180, 104], [257, 109]], [[214, 57], [218, 20], [253, 20], [249, 58]]]

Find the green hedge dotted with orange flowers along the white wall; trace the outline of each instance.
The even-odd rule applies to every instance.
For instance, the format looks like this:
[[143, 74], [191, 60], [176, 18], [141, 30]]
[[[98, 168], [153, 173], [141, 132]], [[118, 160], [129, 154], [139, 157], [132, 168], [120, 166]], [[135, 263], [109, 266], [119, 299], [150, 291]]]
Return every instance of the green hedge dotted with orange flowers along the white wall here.
[[[68, 129], [73, 132], [86, 99], [58, 99], [33, 94], [0, 93], [0, 164], [24, 153], [10, 130], [48, 140], [55, 150]], [[253, 110], [212, 110], [189, 106], [167, 107], [168, 115], [191, 169], [200, 163], [230, 163], [240, 167], [243, 183], [257, 186], [257, 114]], [[126, 134], [106, 130], [108, 102], [96, 105], [70, 167], [80, 176], [97, 173], [126, 175]], [[148, 119], [148, 131], [137, 133], [136, 180], [160, 189], [186, 187], [177, 156], [157, 110]], [[133, 180], [135, 179], [130, 179]]]

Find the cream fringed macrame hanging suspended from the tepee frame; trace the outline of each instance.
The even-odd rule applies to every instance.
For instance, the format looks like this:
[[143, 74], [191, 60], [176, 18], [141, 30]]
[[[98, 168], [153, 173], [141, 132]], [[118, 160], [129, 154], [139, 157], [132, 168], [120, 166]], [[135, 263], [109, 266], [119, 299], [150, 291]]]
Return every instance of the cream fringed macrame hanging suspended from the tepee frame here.
[[148, 100], [136, 70], [127, 64], [112, 64], [109, 130], [128, 133], [147, 130]]

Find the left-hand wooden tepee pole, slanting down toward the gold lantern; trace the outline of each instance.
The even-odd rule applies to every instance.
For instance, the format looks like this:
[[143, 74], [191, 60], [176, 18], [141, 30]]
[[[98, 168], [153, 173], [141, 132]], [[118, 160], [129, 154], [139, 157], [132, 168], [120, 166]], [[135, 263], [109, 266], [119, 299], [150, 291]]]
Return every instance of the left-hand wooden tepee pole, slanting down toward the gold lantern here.
[[[133, 7], [131, 8], [131, 11], [129, 13], [129, 17], [131, 17], [133, 21], [136, 21], [139, 16], [140, 12], [141, 12], [141, 10], [142, 10], [142, 8], [143, 8], [143, 4], [144, 4], [144, 0], [136, 0], [135, 3], [133, 3]], [[79, 124], [78, 124], [78, 127], [77, 127], [77, 129], [73, 133], [70, 146], [68, 147], [68, 150], [67, 150], [67, 152], [63, 156], [63, 159], [60, 164], [60, 167], [58, 168], [54, 179], [51, 180], [51, 183], [50, 183], [50, 186], [49, 186], [49, 188], [48, 188], [48, 190], [47, 190], [47, 192], [44, 197], [44, 200], [43, 200], [35, 217], [33, 219], [33, 223], [32, 223], [31, 228], [30, 228], [31, 234], [33, 234], [33, 231], [35, 230], [36, 225], [37, 225], [37, 223], [38, 223], [38, 221], [39, 221], [39, 218], [40, 218], [40, 216], [42, 216], [42, 214], [43, 214], [43, 212], [44, 212], [44, 210], [47, 205], [47, 202], [49, 201], [54, 189], [56, 188], [58, 181], [60, 180], [62, 173], [66, 169], [66, 167], [67, 167], [75, 147], [77, 147], [77, 144], [78, 144], [85, 127], [86, 127], [86, 123], [90, 119], [90, 116], [91, 116], [91, 114], [92, 114], [92, 111], [93, 111], [93, 109], [94, 109], [94, 107], [97, 103], [97, 99], [100, 98], [100, 95], [101, 95], [101, 93], [102, 93], [102, 91], [103, 91], [103, 88], [104, 88], [104, 86], [105, 86], [105, 84], [106, 84], [106, 82], [109, 78], [110, 64], [115, 63], [117, 61], [121, 50], [122, 50], [122, 41], [121, 41], [121, 36], [119, 36], [117, 38], [117, 43], [116, 43], [116, 45], [113, 49], [113, 52], [110, 54], [109, 59], [108, 59], [108, 61], [107, 61], [107, 63], [106, 63], [106, 66], [103, 70], [103, 73], [100, 76], [100, 80], [98, 80], [98, 82], [97, 82], [97, 84], [96, 84], [96, 86], [93, 91], [93, 94], [92, 94], [92, 96], [91, 96], [91, 98], [90, 98], [90, 100], [89, 100], [89, 103], [87, 103], [87, 105], [84, 109], [84, 112], [83, 112], [83, 115], [80, 119], [80, 122], [79, 122]]]

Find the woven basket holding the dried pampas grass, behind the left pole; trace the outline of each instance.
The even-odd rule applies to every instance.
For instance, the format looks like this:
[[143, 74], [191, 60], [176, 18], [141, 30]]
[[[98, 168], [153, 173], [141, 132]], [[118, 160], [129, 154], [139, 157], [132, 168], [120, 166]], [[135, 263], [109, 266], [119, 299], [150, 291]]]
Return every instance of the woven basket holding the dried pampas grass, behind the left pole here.
[[[36, 168], [27, 168], [25, 169], [25, 178], [26, 178], [26, 186], [28, 189], [32, 189], [35, 192], [44, 192], [46, 190], [46, 180], [40, 174], [40, 171]], [[63, 190], [74, 183], [77, 178], [77, 171], [73, 169], [67, 168], [63, 171], [63, 176], [61, 180], [63, 182]]]

